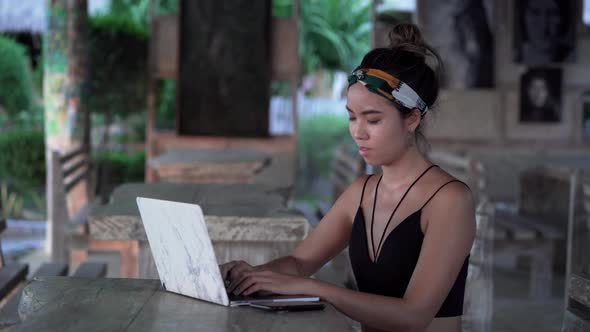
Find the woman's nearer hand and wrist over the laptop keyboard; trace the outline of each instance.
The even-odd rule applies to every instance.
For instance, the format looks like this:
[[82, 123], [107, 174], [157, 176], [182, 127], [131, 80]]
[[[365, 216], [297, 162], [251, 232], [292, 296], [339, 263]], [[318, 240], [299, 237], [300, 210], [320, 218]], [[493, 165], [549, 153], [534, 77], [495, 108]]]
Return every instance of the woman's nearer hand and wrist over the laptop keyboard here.
[[258, 291], [283, 295], [313, 295], [310, 294], [311, 282], [309, 278], [272, 271], [250, 271], [244, 273], [243, 281], [235, 287], [233, 292], [237, 295], [251, 295]]

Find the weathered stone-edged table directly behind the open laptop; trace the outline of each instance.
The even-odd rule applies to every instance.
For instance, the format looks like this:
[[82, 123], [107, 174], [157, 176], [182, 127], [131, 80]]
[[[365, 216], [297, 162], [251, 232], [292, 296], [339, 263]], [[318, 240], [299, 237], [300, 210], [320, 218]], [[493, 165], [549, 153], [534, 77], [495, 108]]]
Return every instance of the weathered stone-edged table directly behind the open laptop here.
[[157, 278], [136, 197], [201, 205], [220, 263], [243, 259], [261, 264], [288, 254], [310, 232], [301, 214], [286, 209], [287, 188], [255, 184], [127, 183], [107, 205], [91, 209], [94, 240], [139, 241], [138, 276]]

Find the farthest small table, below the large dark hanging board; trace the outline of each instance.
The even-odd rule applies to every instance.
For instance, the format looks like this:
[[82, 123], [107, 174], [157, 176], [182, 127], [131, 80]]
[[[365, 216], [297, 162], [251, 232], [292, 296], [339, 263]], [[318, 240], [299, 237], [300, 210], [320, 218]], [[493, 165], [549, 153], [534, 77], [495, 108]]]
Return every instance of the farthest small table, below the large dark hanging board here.
[[173, 149], [152, 158], [149, 166], [166, 182], [253, 183], [270, 161], [269, 153], [246, 148]]

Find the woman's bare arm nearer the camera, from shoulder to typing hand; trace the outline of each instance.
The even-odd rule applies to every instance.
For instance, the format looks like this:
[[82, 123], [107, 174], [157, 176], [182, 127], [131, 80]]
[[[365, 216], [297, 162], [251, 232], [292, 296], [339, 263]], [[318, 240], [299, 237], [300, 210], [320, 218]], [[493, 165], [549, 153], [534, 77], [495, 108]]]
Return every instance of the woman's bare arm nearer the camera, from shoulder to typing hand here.
[[440, 309], [471, 250], [475, 211], [470, 192], [461, 184], [446, 186], [425, 208], [424, 217], [428, 226], [420, 257], [401, 299], [272, 272], [248, 273], [237, 291], [316, 295], [364, 325], [388, 331], [421, 331]]

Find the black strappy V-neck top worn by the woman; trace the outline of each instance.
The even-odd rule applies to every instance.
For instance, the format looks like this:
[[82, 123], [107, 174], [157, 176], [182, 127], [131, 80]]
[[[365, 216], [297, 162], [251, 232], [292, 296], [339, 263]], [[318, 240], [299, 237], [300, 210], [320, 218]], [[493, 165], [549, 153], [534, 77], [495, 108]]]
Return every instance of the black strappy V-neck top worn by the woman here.
[[[398, 203], [398, 207], [414, 184], [416, 184], [416, 182], [418, 182], [418, 180], [434, 166], [435, 165], [429, 167], [414, 181], [414, 183], [412, 183]], [[352, 225], [349, 242], [349, 255], [352, 270], [356, 278], [357, 286], [361, 292], [403, 298], [406, 288], [410, 283], [414, 268], [416, 267], [416, 263], [418, 262], [420, 248], [422, 247], [422, 241], [424, 240], [424, 234], [422, 234], [422, 229], [420, 228], [422, 209], [428, 204], [428, 202], [430, 202], [438, 191], [447, 184], [452, 182], [463, 182], [452, 180], [439, 187], [418, 211], [402, 220], [386, 238], [382, 239], [382, 243], [375, 248], [377, 250], [377, 255], [374, 256], [375, 262], [373, 262], [371, 261], [369, 250], [373, 249], [374, 245], [369, 245], [369, 243], [367, 243], [367, 228], [361, 207], [363, 196], [365, 194], [365, 187], [371, 176], [372, 175], [365, 180], [359, 207]], [[381, 181], [381, 179], [379, 179], [379, 181]], [[377, 190], [378, 184], [375, 194], [377, 193]], [[373, 205], [373, 213], [374, 209], [375, 207]], [[397, 207], [395, 210], [397, 210]], [[395, 213], [395, 210], [392, 213], [392, 216]], [[387, 227], [385, 227], [384, 232], [386, 231]], [[372, 242], [375, 241], [373, 240]], [[375, 252], [375, 249], [373, 249], [373, 252]], [[455, 280], [449, 295], [435, 317], [454, 317], [463, 314], [463, 296], [465, 294], [465, 280], [467, 279], [468, 265], [469, 256], [465, 258], [465, 262], [461, 267], [457, 280]]]

